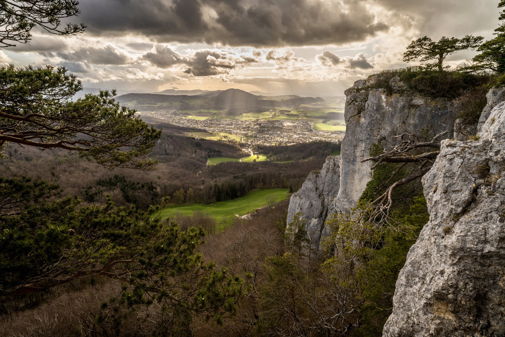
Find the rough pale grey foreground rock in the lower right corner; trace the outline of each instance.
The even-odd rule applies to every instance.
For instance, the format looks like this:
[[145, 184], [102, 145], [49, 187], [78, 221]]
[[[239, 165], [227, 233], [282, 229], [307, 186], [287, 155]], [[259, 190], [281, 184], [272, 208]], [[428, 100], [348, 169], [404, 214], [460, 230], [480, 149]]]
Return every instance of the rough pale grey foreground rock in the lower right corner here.
[[399, 274], [385, 337], [505, 335], [505, 102], [480, 136], [442, 141], [423, 177], [430, 221]]

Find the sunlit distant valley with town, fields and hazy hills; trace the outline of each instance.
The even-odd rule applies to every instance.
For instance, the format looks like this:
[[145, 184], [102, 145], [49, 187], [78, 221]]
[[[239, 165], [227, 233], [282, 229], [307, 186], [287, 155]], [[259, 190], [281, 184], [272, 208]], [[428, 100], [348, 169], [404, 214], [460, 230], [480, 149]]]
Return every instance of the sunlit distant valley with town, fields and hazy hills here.
[[345, 134], [340, 98], [264, 97], [238, 89], [216, 96], [129, 93], [117, 99], [136, 109], [145, 121], [162, 120], [206, 130], [195, 138], [233, 139], [244, 146], [293, 145], [311, 141], [337, 142]]

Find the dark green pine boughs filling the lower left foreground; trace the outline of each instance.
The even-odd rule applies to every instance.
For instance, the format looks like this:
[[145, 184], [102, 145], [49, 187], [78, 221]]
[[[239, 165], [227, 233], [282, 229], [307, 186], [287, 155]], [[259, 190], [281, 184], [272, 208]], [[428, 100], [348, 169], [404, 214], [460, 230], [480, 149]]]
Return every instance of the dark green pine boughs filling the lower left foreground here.
[[104, 299], [96, 317], [113, 330], [124, 313], [154, 303], [162, 310], [160, 335], [191, 335], [195, 314], [222, 323], [235, 313], [245, 282], [194, 253], [203, 228], [182, 231], [161, 219], [160, 207], [142, 212], [109, 200], [77, 209], [75, 198], [51, 201], [60, 192], [27, 177], [0, 178], [0, 296], [102, 275], [123, 283], [121, 296]]

